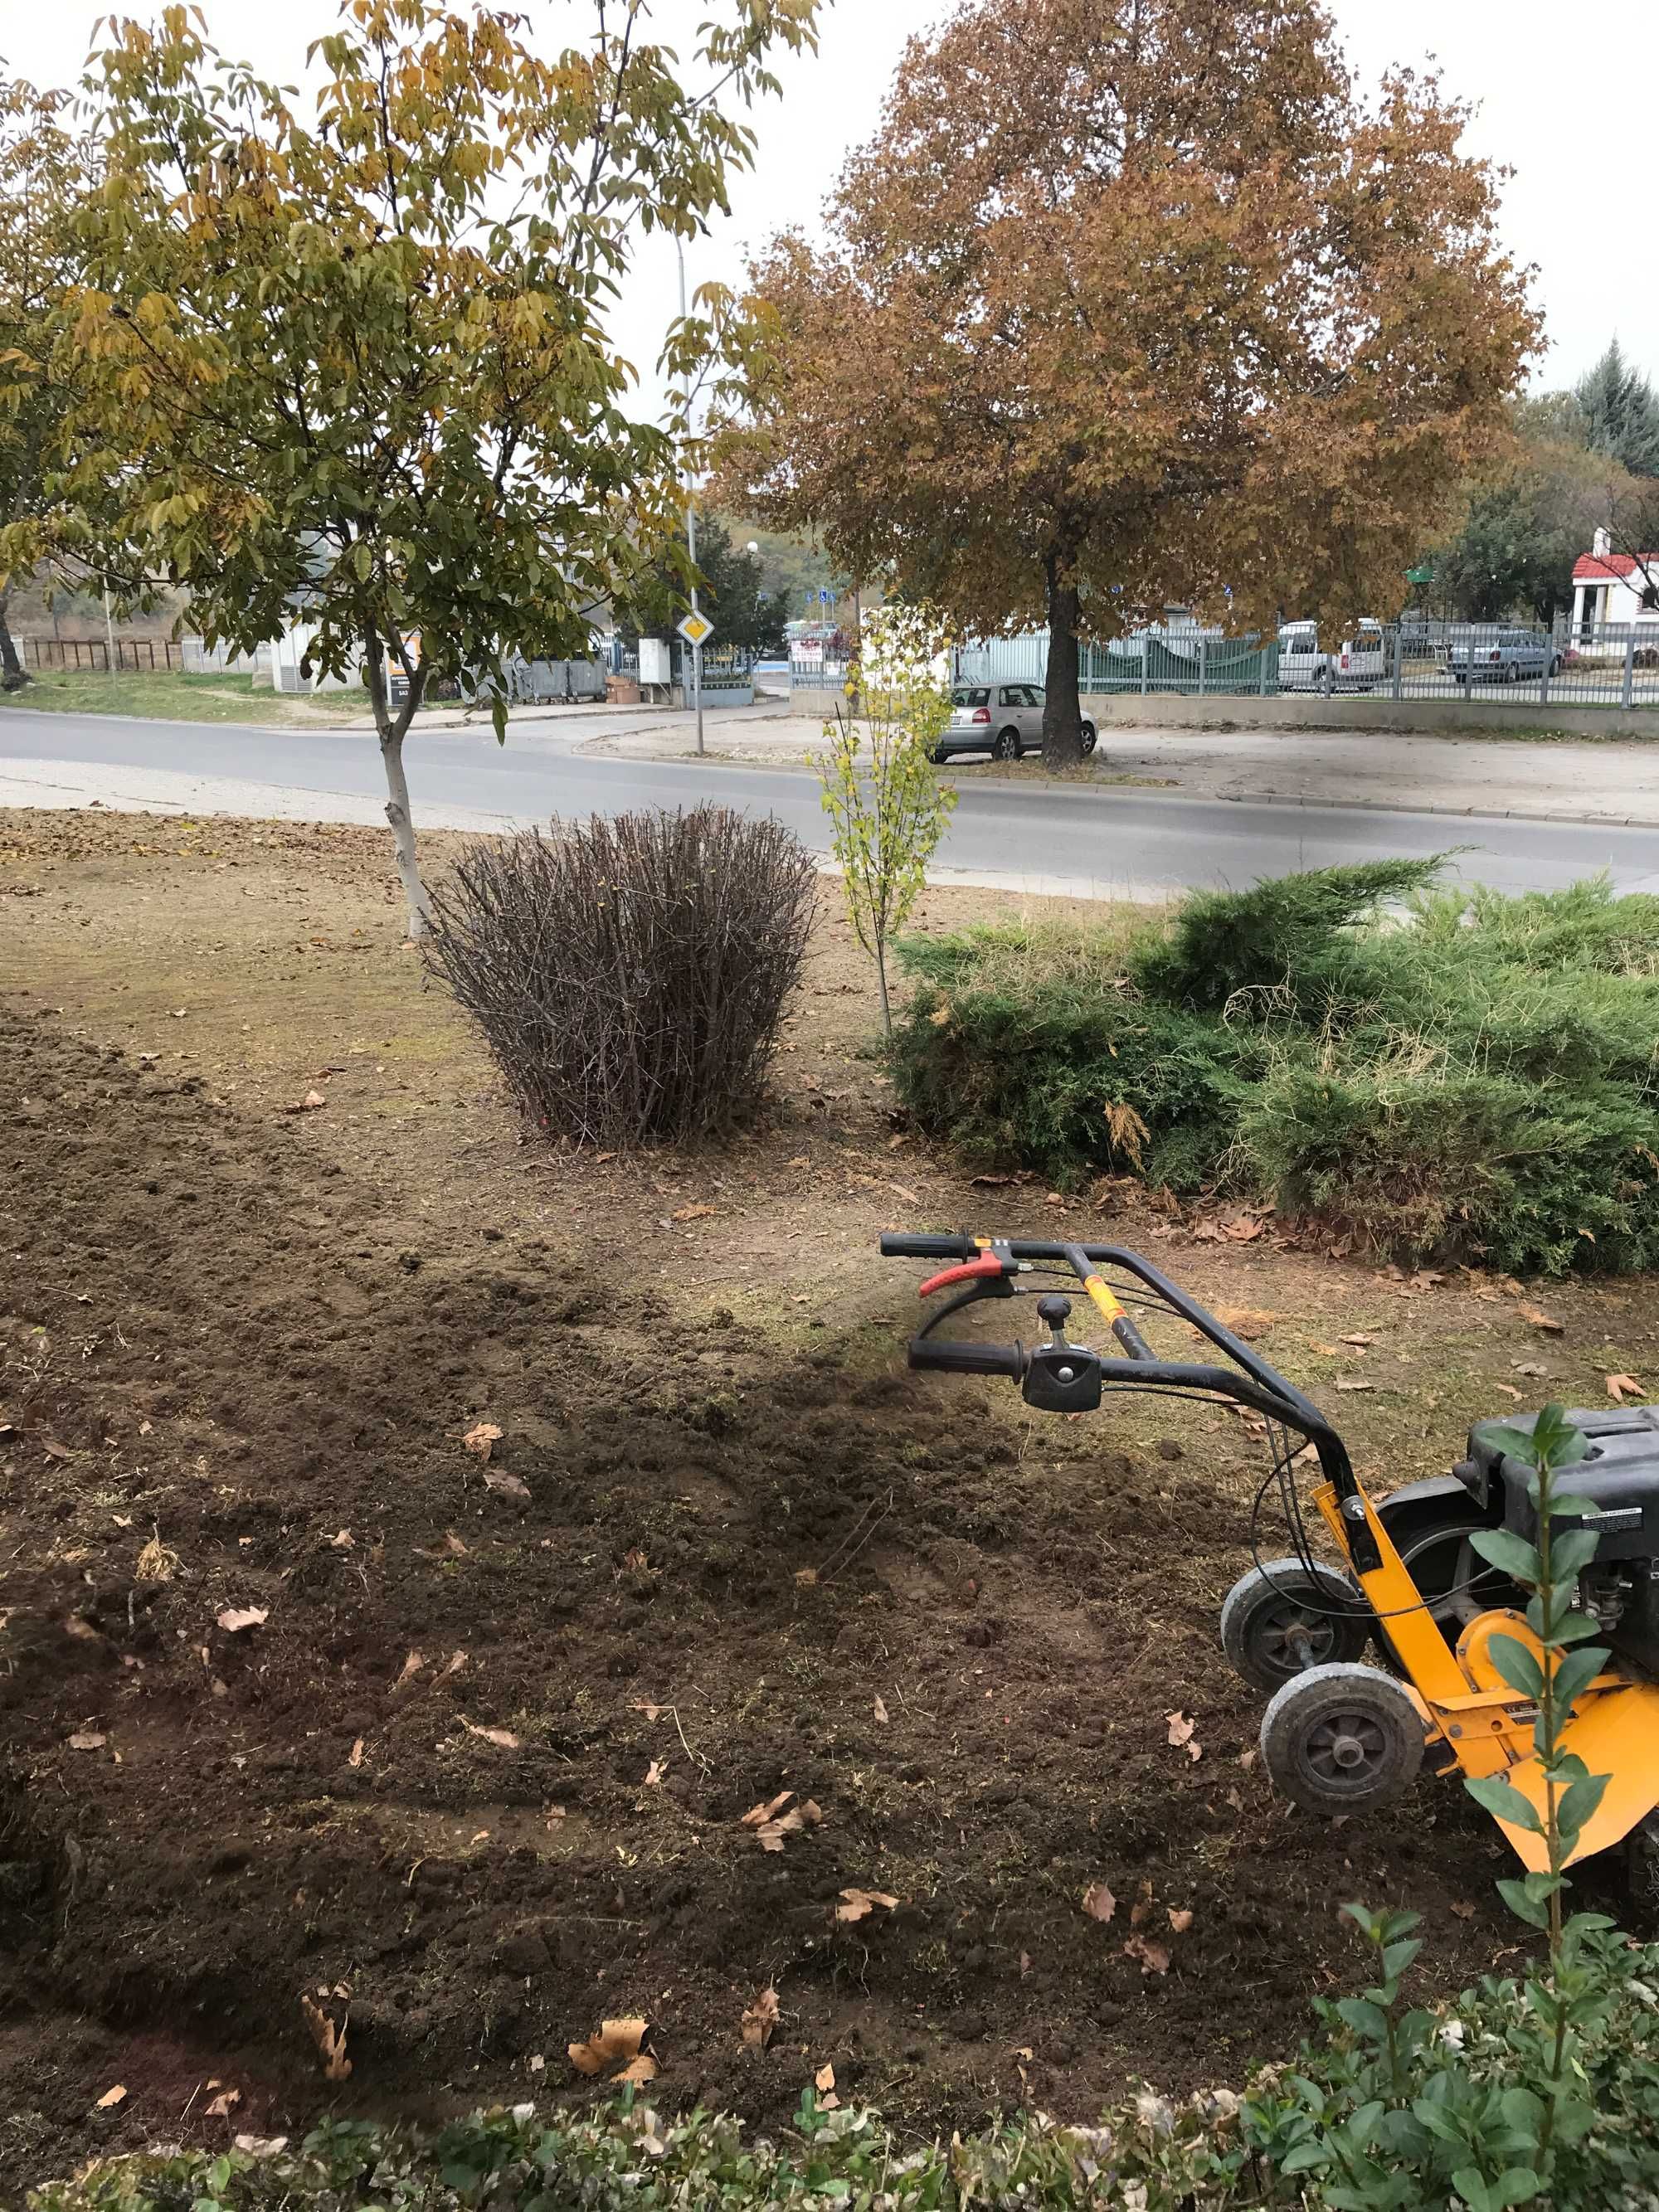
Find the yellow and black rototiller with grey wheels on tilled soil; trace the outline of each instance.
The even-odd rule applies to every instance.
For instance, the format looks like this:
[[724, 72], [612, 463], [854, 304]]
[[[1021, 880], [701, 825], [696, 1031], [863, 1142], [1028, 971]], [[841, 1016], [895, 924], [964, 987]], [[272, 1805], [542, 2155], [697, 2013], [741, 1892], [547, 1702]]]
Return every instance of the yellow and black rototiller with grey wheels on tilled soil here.
[[[1347, 1814], [1385, 1805], [1413, 1781], [1425, 1747], [1440, 1772], [1504, 1774], [1542, 1807], [1533, 1754], [1537, 1710], [1491, 1659], [1495, 1635], [1537, 1650], [1526, 1628], [1526, 1593], [1471, 1546], [1480, 1528], [1531, 1540], [1528, 1469], [1478, 1422], [1469, 1458], [1449, 1475], [1409, 1482], [1371, 1500], [1354, 1475], [1343, 1438], [1261, 1354], [1225, 1329], [1179, 1285], [1121, 1245], [1009, 1243], [991, 1237], [883, 1237], [889, 1259], [947, 1261], [920, 1296], [953, 1292], [911, 1336], [909, 1365], [949, 1374], [1006, 1376], [1026, 1405], [1088, 1413], [1106, 1391], [1232, 1400], [1265, 1422], [1272, 1467], [1256, 1491], [1250, 1551], [1256, 1564], [1221, 1608], [1221, 1646], [1256, 1690], [1270, 1692], [1261, 1756], [1276, 1790], [1307, 1812]], [[1113, 1281], [1108, 1281], [1108, 1274]], [[1051, 1285], [1082, 1285], [1110, 1327], [1106, 1356], [1066, 1336], [1071, 1298]], [[991, 1345], [936, 1336], [951, 1314], [982, 1298], [1037, 1296], [1044, 1340]], [[1175, 1314], [1225, 1365], [1157, 1358], [1128, 1307]], [[1613, 1661], [1573, 1705], [1566, 1747], [1590, 1774], [1608, 1774], [1599, 1809], [1575, 1858], [1630, 1847], [1641, 1902], [1659, 1898], [1659, 1407], [1621, 1405], [1571, 1416], [1588, 1440], [1573, 1493], [1595, 1511], [1577, 1526], [1599, 1533], [1579, 1579], [1579, 1608], [1599, 1624]], [[1314, 1447], [1321, 1480], [1312, 1502], [1345, 1571], [1314, 1557], [1296, 1464]], [[1259, 1526], [1276, 1486], [1292, 1555], [1261, 1559]], [[1376, 1663], [1365, 1652], [1376, 1648]], [[1544, 1843], [1500, 1820], [1520, 1860], [1540, 1869]]]

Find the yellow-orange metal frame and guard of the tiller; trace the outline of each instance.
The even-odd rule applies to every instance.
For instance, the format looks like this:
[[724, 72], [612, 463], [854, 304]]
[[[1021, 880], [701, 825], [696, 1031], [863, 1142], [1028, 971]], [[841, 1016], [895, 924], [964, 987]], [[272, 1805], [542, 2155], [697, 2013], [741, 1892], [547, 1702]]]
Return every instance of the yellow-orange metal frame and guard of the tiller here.
[[[1356, 1498], [1378, 1564], [1369, 1573], [1354, 1568], [1354, 1575], [1371, 1610], [1387, 1621], [1389, 1644], [1405, 1668], [1429, 1743], [1451, 1752], [1442, 1772], [1449, 1774], [1458, 1765], [1464, 1774], [1502, 1774], [1542, 1812], [1544, 1774], [1533, 1752], [1537, 1708], [1509, 1688], [1489, 1657], [1491, 1637], [1498, 1632], [1531, 1644], [1535, 1652], [1540, 1652], [1537, 1639], [1522, 1615], [1495, 1610], [1471, 1621], [1453, 1650], [1422, 1604], [1411, 1571], [1360, 1484]], [[1321, 1482], [1314, 1504], [1352, 1566], [1349, 1522], [1336, 1486]], [[1577, 1860], [1606, 1851], [1659, 1807], [1659, 1686], [1632, 1681], [1615, 1670], [1597, 1674], [1573, 1705], [1562, 1730], [1562, 1747], [1577, 1752], [1590, 1774], [1610, 1776], [1601, 1805], [1579, 1834], [1573, 1851]], [[1542, 1871], [1544, 1838], [1509, 1820], [1498, 1825], [1522, 1865]]]

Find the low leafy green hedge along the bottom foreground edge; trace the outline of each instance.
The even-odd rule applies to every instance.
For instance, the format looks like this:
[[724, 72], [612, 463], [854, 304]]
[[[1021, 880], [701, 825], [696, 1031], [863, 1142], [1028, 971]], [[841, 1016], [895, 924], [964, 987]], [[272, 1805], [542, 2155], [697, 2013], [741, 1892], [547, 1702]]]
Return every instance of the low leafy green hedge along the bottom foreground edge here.
[[[1391, 1920], [1387, 1933], [1407, 1927]], [[1553, 2212], [1659, 2203], [1659, 1949], [1588, 1938], [1599, 1978], [1579, 2031], [1573, 2117], [1562, 2115]], [[723, 2117], [668, 2119], [624, 2101], [595, 2112], [529, 2104], [440, 2132], [330, 2124], [299, 2146], [100, 2159], [31, 2194], [31, 2212], [1243, 2212], [1243, 2208], [1467, 2205], [1453, 2174], [1515, 2190], [1535, 2135], [1535, 1989], [1486, 1980], [1385, 2020], [1367, 1997], [1316, 2006], [1296, 2064], [1243, 2097], [1170, 2104], [1152, 2090], [1095, 2128], [1022, 2117], [949, 2143], [900, 2143], [867, 2110], [801, 2099], [794, 2128], [748, 2137]], [[765, 2062], [757, 2062], [765, 2064]], [[1427, 2119], [1425, 2119], [1427, 2115]]]

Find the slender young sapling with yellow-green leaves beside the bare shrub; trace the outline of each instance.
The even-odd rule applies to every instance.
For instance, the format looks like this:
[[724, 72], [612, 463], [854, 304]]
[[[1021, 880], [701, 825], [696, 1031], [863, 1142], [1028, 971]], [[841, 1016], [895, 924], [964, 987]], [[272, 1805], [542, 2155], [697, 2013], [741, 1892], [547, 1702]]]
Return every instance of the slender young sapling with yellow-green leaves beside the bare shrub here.
[[830, 754], [818, 770], [830, 847], [841, 863], [847, 916], [876, 962], [883, 1033], [894, 1035], [887, 945], [927, 883], [927, 863], [956, 805], [933, 754], [951, 719], [945, 637], [920, 606], [885, 606], [865, 624], [845, 708], [827, 721]]

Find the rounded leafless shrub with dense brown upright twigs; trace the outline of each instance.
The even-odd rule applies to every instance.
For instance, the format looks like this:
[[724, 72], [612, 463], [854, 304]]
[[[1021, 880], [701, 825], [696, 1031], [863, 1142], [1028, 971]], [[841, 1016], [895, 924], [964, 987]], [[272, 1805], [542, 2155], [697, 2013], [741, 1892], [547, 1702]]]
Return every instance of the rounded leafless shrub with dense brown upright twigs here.
[[431, 896], [427, 962], [549, 1133], [710, 1137], [761, 1099], [814, 885], [772, 821], [595, 814], [469, 852]]

